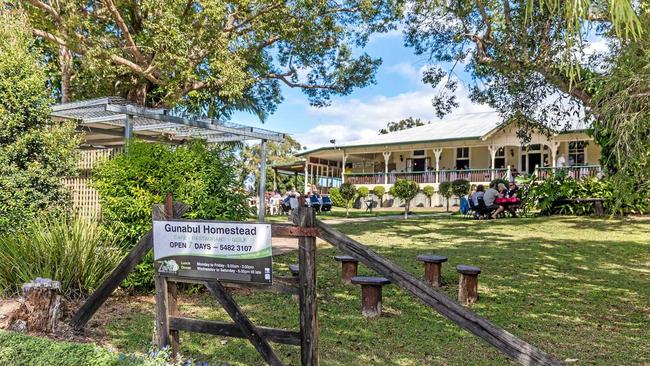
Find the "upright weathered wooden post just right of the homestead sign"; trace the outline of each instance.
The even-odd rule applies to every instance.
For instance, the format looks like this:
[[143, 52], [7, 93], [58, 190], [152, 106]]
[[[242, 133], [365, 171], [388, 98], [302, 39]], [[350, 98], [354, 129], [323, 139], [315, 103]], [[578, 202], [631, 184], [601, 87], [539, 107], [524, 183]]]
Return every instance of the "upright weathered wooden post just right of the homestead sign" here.
[[[298, 200], [297, 221], [303, 228], [314, 227], [314, 210]], [[298, 239], [300, 270], [300, 359], [303, 366], [318, 366], [318, 304], [316, 303], [316, 237]]]

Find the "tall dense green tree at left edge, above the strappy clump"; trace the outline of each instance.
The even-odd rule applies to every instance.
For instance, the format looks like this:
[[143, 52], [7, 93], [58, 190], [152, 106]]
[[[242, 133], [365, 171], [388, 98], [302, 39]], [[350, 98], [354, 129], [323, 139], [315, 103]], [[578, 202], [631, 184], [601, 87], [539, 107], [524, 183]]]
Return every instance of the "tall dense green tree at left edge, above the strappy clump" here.
[[[15, 14], [14, 14], [15, 15]], [[0, 12], [0, 233], [69, 203], [78, 138], [52, 122], [50, 90], [22, 18]]]

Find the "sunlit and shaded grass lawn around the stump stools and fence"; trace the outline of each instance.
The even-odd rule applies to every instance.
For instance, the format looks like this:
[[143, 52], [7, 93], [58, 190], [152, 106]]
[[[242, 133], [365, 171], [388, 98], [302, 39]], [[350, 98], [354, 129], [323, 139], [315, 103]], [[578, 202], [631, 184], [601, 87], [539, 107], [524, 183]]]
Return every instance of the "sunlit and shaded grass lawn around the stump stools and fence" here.
[[[457, 264], [480, 266], [479, 302], [472, 308], [493, 323], [579, 365], [650, 364], [650, 218], [608, 221], [552, 217], [472, 221], [457, 217], [372, 221], [337, 227], [418, 276], [415, 256], [449, 257], [444, 291], [457, 292]], [[322, 365], [503, 365], [509, 361], [473, 335], [396, 286], [384, 289], [384, 315], [360, 315], [360, 294], [339, 281], [337, 251], [318, 251]], [[288, 274], [297, 253], [276, 257], [275, 273]], [[372, 275], [365, 266], [362, 274]], [[257, 325], [297, 329], [297, 303], [289, 295], [237, 292]], [[185, 316], [228, 320], [206, 294], [184, 296]], [[98, 342], [122, 353], [146, 352], [154, 312], [151, 297], [114, 298], [95, 323]], [[221, 365], [262, 365], [245, 340], [181, 333], [182, 352]], [[3, 344], [0, 338], [0, 355]], [[287, 364], [299, 348], [273, 344]], [[1, 358], [0, 358], [1, 359]]]

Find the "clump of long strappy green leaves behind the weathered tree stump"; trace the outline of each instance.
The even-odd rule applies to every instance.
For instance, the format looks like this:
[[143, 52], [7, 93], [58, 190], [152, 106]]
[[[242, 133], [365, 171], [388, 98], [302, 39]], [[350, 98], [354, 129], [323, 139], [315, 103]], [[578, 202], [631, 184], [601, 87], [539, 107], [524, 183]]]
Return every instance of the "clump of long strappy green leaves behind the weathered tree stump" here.
[[0, 236], [0, 292], [18, 293], [36, 277], [61, 281], [63, 293], [92, 292], [122, 252], [94, 219], [45, 216]]

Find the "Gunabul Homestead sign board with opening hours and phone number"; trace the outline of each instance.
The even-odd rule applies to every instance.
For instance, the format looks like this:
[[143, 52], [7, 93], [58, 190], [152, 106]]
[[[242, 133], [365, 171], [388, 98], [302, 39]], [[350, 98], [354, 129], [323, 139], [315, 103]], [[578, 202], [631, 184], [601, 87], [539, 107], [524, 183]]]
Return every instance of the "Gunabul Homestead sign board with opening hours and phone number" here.
[[154, 220], [153, 251], [156, 271], [160, 274], [272, 282], [269, 224]]

